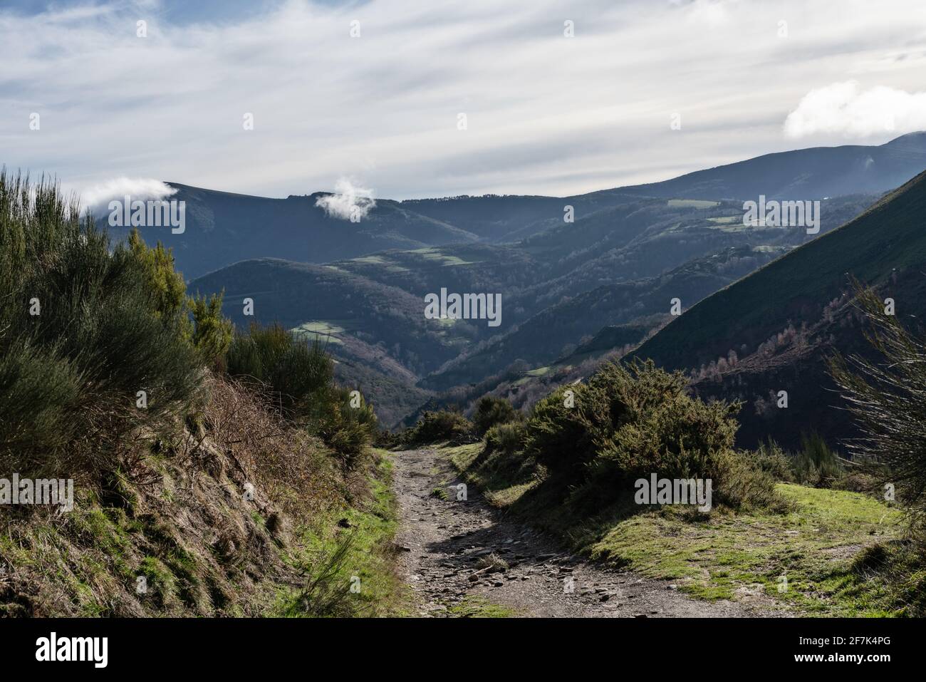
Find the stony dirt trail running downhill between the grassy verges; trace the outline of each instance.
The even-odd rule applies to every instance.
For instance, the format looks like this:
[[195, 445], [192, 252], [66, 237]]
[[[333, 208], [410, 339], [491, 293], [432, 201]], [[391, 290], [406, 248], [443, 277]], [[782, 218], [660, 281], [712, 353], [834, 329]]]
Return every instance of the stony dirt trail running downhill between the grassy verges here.
[[[556, 617], [737, 617], [782, 615], [769, 600], [693, 600], [675, 586], [585, 562], [555, 540], [489, 507], [460, 483], [437, 450], [394, 454], [394, 487], [402, 527], [396, 538], [407, 551], [400, 559], [412, 587], [415, 613], [444, 616], [461, 601], [482, 598], [525, 616]], [[444, 482], [444, 486], [442, 486]], [[446, 490], [447, 499], [433, 494]], [[498, 562], [486, 568], [492, 557]], [[570, 589], [571, 587], [571, 589]]]

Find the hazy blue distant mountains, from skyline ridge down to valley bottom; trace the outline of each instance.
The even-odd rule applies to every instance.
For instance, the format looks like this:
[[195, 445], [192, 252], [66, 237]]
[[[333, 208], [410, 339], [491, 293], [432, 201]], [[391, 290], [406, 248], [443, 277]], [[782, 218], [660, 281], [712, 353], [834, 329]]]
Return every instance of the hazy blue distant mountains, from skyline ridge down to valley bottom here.
[[[913, 133], [887, 145], [771, 154], [582, 196], [379, 200], [359, 223], [325, 215], [315, 206], [319, 194], [262, 199], [177, 185], [175, 198], [192, 202], [186, 232], [157, 236], [175, 249], [181, 272], [194, 275], [191, 290], [225, 291], [234, 322], [250, 322], [242, 300], [253, 297], [254, 319], [326, 340], [339, 376], [360, 385], [392, 424], [424, 402], [469, 400], [496, 385], [531, 394], [532, 383], [613, 353], [608, 339], [626, 349], [655, 335], [638, 353], [704, 374], [695, 389], [707, 395], [711, 361], [735, 350], [745, 363], [781, 331], [776, 325], [804, 319], [800, 307], [782, 320], [764, 305], [807, 292], [815, 310], [808, 323], [820, 306], [809, 284], [775, 283], [768, 301], [751, 292], [751, 311], [724, 304], [710, 324], [688, 322], [698, 300], [817, 243], [802, 228], [745, 225], [743, 201], [820, 199], [825, 235], [923, 169], [926, 134]], [[564, 221], [566, 207], [572, 222]], [[811, 268], [807, 277], [820, 273]], [[502, 325], [426, 320], [423, 297], [442, 287], [500, 293]], [[675, 297], [686, 312], [673, 320]], [[676, 338], [671, 330], [682, 325]], [[721, 388], [710, 395], [730, 393], [714, 385]]]

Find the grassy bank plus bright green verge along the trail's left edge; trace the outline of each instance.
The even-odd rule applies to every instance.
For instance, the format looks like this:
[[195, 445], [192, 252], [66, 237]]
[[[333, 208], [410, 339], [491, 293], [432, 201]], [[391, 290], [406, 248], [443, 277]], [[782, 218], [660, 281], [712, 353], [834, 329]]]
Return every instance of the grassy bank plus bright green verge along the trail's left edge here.
[[145, 461], [159, 471], [150, 488], [79, 491], [62, 515], [6, 510], [0, 616], [403, 613], [388, 453], [365, 456], [311, 525], [292, 529], [293, 517], [230, 496], [224, 476], [197, 472], [193, 484], [184, 462]]

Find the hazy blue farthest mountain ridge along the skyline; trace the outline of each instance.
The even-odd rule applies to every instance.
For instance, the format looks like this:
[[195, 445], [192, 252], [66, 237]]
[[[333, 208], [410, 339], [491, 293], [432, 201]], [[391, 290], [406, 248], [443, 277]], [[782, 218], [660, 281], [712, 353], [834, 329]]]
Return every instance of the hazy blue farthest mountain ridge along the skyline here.
[[[510, 244], [531, 241], [557, 228], [607, 209], [644, 210], [663, 199], [812, 199], [881, 194], [926, 168], [926, 133], [910, 133], [880, 146], [816, 147], [769, 154], [661, 183], [619, 187], [578, 196], [456, 196], [393, 201], [378, 199], [359, 222], [332, 218], [316, 206], [319, 196], [284, 199], [246, 196], [169, 183], [186, 202], [186, 229], [141, 228], [146, 242], [162, 241], [174, 250], [187, 279], [239, 260], [282, 258], [325, 263], [389, 250], [415, 250], [452, 244]], [[632, 219], [619, 224], [632, 225]], [[607, 225], [606, 225], [607, 229]], [[126, 229], [111, 228], [117, 239]], [[560, 234], [569, 234], [569, 230]], [[578, 236], [573, 234], [572, 236]], [[615, 235], [617, 238], [617, 235]], [[581, 250], [575, 243], [554, 244], [537, 236], [528, 245], [551, 257]], [[555, 241], [555, 240], [554, 240]], [[584, 246], [591, 246], [586, 244]]]

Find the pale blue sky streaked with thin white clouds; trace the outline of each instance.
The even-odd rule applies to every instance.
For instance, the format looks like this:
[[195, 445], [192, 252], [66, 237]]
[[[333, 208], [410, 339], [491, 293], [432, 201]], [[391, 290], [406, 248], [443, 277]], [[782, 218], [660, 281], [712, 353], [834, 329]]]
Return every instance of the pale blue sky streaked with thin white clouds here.
[[922, 0], [0, 0], [0, 57], [0, 163], [85, 203], [569, 196], [926, 130]]

